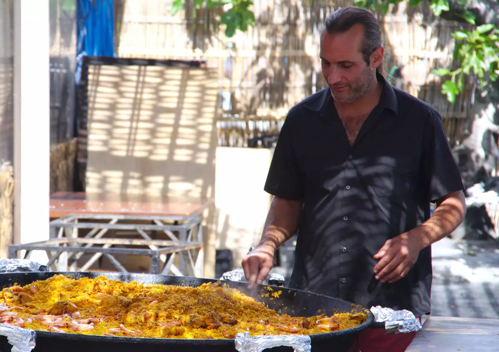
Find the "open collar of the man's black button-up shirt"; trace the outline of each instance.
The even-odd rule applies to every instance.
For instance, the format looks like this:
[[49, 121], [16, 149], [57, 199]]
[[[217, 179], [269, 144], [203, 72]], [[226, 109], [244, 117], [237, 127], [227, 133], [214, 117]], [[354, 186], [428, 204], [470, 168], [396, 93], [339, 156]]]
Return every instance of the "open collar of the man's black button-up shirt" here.
[[[379, 104], [397, 114], [398, 101], [393, 86], [378, 72], [376, 72], [376, 78], [378, 81], [383, 81], [384, 84], [379, 98]], [[312, 111], [320, 111], [320, 114], [325, 116], [327, 115], [329, 109], [328, 104], [330, 102], [332, 102], [331, 89], [327, 87], [319, 91], [319, 93], [314, 98], [310, 99], [304, 106]]]

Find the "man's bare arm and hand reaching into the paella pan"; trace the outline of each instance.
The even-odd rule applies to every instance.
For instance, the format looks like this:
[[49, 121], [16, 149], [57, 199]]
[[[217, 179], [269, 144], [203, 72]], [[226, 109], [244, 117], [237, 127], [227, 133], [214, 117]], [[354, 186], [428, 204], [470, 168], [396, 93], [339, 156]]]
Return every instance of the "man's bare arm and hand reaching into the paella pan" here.
[[298, 229], [302, 201], [274, 196], [270, 203], [263, 235], [255, 249], [243, 258], [248, 288], [261, 284], [274, 262], [274, 251]]

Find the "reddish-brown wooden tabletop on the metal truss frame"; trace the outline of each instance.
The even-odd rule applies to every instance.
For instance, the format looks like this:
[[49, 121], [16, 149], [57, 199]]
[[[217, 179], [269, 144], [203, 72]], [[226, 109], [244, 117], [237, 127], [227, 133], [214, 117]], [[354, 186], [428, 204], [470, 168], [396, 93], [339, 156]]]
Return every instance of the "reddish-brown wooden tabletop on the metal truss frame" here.
[[50, 195], [50, 218], [81, 213], [201, 216], [211, 204], [210, 198], [55, 192]]

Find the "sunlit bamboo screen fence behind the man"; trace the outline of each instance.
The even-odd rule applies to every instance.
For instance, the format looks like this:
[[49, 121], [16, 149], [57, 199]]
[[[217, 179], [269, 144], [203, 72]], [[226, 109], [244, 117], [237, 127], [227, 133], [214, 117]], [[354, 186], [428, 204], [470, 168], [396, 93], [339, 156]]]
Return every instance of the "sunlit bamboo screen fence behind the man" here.
[[[205, 58], [217, 68], [222, 113], [219, 144], [242, 145], [247, 137], [278, 130], [287, 110], [324, 87], [319, 35], [328, 13], [349, 1], [254, 0], [256, 26], [226, 38], [213, 10], [194, 13], [192, 3], [172, 15], [172, 0], [117, 0], [118, 55]], [[397, 66], [395, 85], [435, 106], [451, 143], [465, 127], [469, 96], [450, 104], [433, 68], [452, 59], [454, 24], [407, 2], [377, 14], [384, 31], [385, 71]]]

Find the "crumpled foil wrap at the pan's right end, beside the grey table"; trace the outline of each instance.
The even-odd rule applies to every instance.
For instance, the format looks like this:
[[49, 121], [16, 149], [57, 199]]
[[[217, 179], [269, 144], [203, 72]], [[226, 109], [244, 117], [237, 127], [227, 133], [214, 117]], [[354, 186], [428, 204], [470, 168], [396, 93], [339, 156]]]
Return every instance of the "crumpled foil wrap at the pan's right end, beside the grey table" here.
[[414, 314], [406, 309], [393, 310], [380, 305], [371, 307], [374, 321], [385, 322], [385, 330], [388, 333], [412, 332], [421, 329], [421, 323]]

